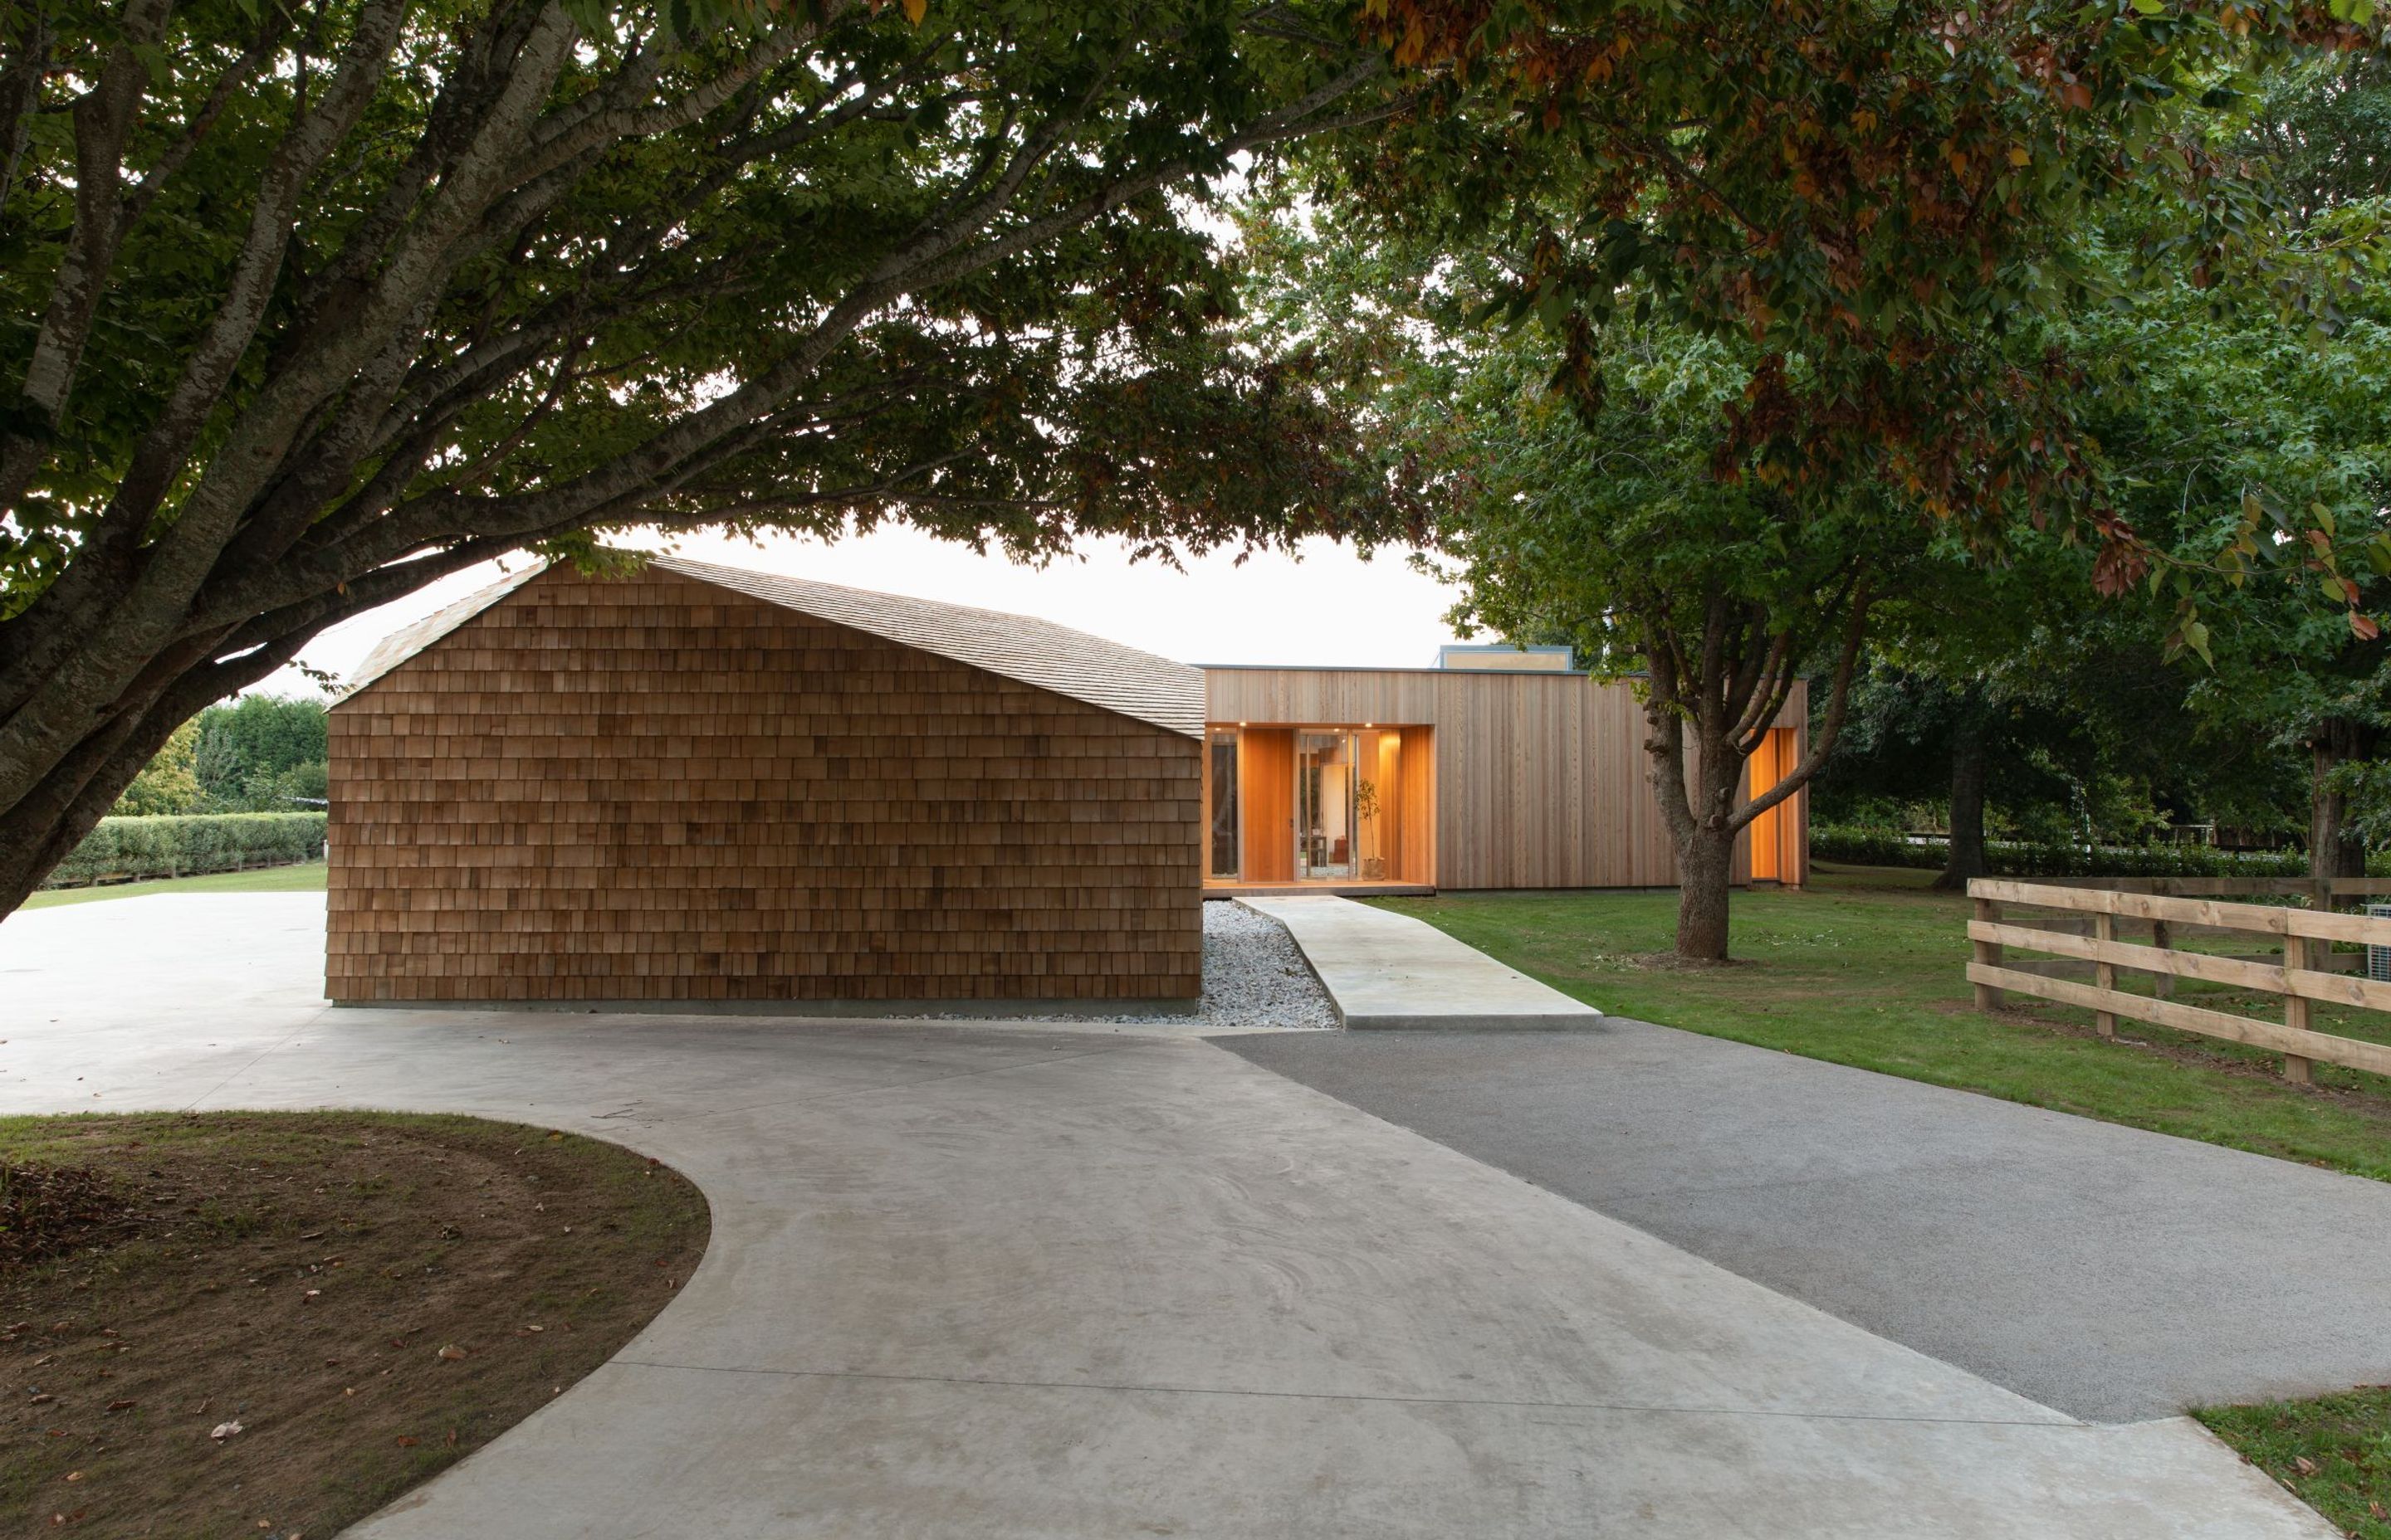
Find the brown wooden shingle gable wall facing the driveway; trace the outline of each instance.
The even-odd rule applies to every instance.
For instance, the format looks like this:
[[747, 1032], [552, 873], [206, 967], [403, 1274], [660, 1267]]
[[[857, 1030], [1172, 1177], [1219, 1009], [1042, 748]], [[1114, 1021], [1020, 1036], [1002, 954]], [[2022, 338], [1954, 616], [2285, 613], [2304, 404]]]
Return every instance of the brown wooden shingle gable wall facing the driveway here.
[[646, 572], [332, 710], [332, 1000], [1188, 1000], [1203, 746]]

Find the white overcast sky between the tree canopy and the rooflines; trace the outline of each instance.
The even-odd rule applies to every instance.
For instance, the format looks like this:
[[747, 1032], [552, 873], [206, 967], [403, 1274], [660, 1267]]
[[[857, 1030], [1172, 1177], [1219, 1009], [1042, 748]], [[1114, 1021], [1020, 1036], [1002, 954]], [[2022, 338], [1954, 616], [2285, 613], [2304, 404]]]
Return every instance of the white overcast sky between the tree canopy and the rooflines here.
[[[775, 536], [760, 545], [681, 536], [677, 550], [724, 567], [1038, 615], [1181, 662], [1427, 667], [1439, 646], [1456, 641], [1444, 624], [1451, 588], [1413, 572], [1406, 552], [1389, 550], [1363, 562], [1329, 540], [1305, 543], [1303, 560], [1255, 555], [1236, 567], [1229, 555], [1215, 555], [1191, 560], [1186, 572], [1129, 562], [1119, 543], [1088, 545], [1076, 562], [1016, 567], [1002, 555], [980, 557], [913, 528], [834, 543]], [[464, 572], [332, 627], [301, 653], [301, 662], [347, 677], [385, 634], [464, 598], [497, 572]], [[258, 689], [316, 691], [296, 670], [282, 670]]]

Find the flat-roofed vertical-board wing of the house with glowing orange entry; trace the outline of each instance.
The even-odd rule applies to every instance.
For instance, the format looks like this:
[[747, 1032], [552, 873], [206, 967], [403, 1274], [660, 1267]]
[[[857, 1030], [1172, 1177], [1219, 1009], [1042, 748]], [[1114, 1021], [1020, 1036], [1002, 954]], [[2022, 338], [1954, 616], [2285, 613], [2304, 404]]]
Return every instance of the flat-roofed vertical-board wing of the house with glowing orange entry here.
[[[1745, 794], [1808, 746], [1796, 686]], [[1559, 648], [1449, 646], [1437, 667], [1205, 667], [1205, 887], [1674, 887], [1633, 686]], [[1808, 792], [1753, 820], [1736, 882], [1810, 875]]]

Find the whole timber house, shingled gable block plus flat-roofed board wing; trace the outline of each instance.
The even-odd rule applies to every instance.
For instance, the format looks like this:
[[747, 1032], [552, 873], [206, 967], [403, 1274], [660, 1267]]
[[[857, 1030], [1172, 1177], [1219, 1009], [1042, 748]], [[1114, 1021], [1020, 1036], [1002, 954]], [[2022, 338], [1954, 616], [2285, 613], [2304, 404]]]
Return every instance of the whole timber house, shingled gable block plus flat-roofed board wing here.
[[[1750, 765], [1803, 751], [1800, 691]], [[335, 1002], [1188, 1007], [1203, 899], [1667, 887], [1633, 689], [1568, 648], [1169, 662], [655, 557], [538, 567], [332, 705]], [[1805, 799], [1738, 882], [1808, 875]]]

